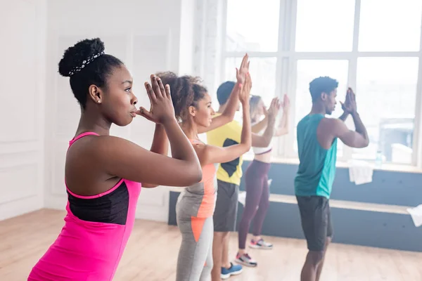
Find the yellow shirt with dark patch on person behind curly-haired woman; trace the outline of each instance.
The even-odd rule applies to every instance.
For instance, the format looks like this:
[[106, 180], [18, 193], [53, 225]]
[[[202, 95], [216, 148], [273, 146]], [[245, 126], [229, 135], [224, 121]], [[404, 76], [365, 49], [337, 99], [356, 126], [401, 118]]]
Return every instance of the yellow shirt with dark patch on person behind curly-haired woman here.
[[[216, 113], [216, 116], [220, 113]], [[232, 121], [215, 130], [207, 132], [207, 144], [219, 147], [241, 143], [242, 126]], [[226, 183], [241, 184], [243, 158], [238, 157], [231, 162], [221, 163], [217, 169], [217, 179]]]

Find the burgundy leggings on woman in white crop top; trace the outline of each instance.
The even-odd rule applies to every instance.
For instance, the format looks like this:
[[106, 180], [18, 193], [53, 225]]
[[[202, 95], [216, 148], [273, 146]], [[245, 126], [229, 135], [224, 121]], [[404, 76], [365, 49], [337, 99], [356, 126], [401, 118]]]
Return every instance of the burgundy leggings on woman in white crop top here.
[[262, 223], [269, 207], [268, 171], [271, 164], [253, 160], [245, 172], [246, 202], [239, 224], [239, 249], [245, 249], [252, 218], [253, 235], [261, 235]]

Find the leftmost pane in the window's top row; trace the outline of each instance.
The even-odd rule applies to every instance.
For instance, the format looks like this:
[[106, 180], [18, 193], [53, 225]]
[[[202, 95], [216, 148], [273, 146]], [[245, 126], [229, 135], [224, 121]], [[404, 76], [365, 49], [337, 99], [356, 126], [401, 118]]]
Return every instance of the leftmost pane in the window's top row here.
[[280, 0], [228, 0], [227, 51], [277, 51]]

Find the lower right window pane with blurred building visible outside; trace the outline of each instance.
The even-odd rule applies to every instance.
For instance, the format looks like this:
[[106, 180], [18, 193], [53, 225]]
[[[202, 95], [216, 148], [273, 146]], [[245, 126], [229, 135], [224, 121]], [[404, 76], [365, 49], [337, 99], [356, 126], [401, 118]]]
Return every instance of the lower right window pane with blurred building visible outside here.
[[359, 58], [357, 109], [369, 134], [369, 146], [354, 149], [355, 159], [411, 163], [418, 58]]

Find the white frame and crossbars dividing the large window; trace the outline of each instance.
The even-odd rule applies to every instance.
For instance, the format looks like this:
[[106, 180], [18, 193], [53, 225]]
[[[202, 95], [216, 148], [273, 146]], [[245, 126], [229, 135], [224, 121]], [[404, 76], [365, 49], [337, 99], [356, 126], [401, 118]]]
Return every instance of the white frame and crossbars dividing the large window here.
[[[226, 58], [241, 58], [244, 53], [236, 51], [226, 51], [226, 18], [227, 18], [227, 1], [223, 0], [222, 7], [222, 50], [221, 50], [221, 63], [220, 63], [220, 81], [225, 77], [225, 61]], [[279, 44], [278, 51], [276, 52], [248, 52], [250, 58], [268, 58], [274, 57], [276, 62], [276, 93], [281, 98], [281, 93], [288, 93], [290, 98], [290, 131], [287, 136], [279, 138], [276, 143], [275, 157], [298, 159], [297, 152], [293, 150], [293, 143], [295, 137], [296, 120], [295, 117], [295, 91], [297, 71], [296, 66], [298, 60], [348, 60], [348, 81], [347, 84], [353, 89], [357, 86], [357, 61], [358, 58], [371, 57], [371, 58], [391, 58], [391, 57], [413, 57], [418, 58], [418, 81], [416, 86], [416, 107], [415, 107], [415, 123], [414, 123], [414, 142], [412, 147], [412, 162], [411, 164], [398, 164], [404, 166], [418, 166], [422, 168], [422, 29], [419, 44], [419, 51], [359, 51], [359, 23], [361, 1], [355, 0], [354, 4], [354, 27], [353, 27], [353, 45], [352, 51], [345, 52], [297, 52], [295, 51], [295, 31], [298, 0], [280, 0], [279, 9]], [[421, 20], [422, 26], [422, 20]], [[310, 98], [310, 97], [309, 97]], [[352, 119], [348, 118], [347, 126], [353, 127]], [[338, 161], [347, 162], [352, 159], [353, 148], [343, 148], [342, 157], [338, 157]], [[418, 155], [421, 155], [418, 157]]]

